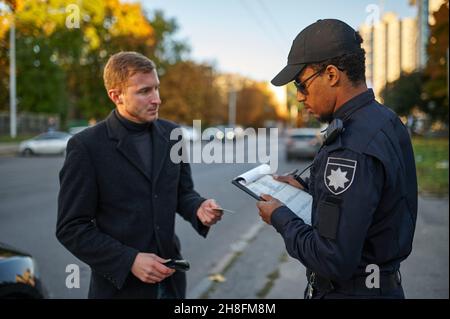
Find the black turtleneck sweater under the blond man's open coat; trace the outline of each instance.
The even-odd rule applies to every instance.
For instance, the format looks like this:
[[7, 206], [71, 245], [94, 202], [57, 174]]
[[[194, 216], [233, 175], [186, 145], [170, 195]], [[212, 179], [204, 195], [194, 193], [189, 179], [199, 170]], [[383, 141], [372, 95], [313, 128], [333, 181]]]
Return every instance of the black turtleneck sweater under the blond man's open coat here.
[[138, 152], [145, 171], [151, 175], [152, 171], [152, 123], [135, 123], [124, 118], [120, 113], [114, 110], [114, 114], [122, 125], [127, 129], [129, 139]]

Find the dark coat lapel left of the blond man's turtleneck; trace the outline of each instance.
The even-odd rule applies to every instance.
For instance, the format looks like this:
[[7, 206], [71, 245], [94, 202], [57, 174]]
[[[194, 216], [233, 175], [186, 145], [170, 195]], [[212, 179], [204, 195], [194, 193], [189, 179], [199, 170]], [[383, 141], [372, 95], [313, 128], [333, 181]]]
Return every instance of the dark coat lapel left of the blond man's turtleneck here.
[[119, 122], [114, 114], [114, 111], [106, 119], [106, 126], [108, 128], [109, 138], [118, 141], [116, 149], [121, 153], [137, 170], [139, 170], [149, 182], [151, 182], [151, 176], [147, 174], [144, 169], [144, 163], [142, 163], [139, 154], [134, 145], [129, 141], [129, 134], [126, 128]]

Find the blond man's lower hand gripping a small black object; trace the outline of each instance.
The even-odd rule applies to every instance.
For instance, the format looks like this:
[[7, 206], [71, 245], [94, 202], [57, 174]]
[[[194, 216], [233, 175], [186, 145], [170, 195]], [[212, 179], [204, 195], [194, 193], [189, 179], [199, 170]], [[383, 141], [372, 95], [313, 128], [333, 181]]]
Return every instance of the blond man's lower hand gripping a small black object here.
[[155, 284], [175, 272], [175, 270], [163, 265], [166, 261], [166, 259], [155, 254], [138, 253], [131, 267], [131, 272], [141, 281]]

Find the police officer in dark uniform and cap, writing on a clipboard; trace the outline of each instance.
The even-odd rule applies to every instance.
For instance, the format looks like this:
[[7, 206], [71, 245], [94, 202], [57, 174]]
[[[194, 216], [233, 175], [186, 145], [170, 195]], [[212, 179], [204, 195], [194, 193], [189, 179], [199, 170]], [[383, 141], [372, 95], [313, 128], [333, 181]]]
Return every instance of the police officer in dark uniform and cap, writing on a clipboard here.
[[417, 179], [406, 127], [365, 83], [360, 35], [326, 19], [293, 41], [272, 80], [329, 126], [310, 178], [278, 177], [313, 197], [312, 226], [276, 198], [257, 207], [307, 268], [306, 298], [404, 298], [400, 262], [411, 253]]

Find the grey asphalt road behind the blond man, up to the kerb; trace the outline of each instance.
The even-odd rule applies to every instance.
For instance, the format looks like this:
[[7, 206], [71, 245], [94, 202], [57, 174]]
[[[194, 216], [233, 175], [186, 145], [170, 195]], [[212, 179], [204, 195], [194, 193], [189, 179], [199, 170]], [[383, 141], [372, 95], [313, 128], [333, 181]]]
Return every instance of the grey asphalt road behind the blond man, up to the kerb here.
[[[250, 148], [255, 151], [255, 148]], [[227, 149], [228, 152], [230, 149]], [[280, 145], [279, 171], [301, 168], [308, 162], [285, 163]], [[51, 298], [85, 298], [90, 270], [72, 256], [55, 238], [58, 173], [63, 157], [0, 157], [0, 241], [35, 257]], [[195, 287], [221, 258], [230, 245], [260, 220], [255, 201], [231, 184], [239, 174], [257, 164], [193, 164], [197, 191], [214, 198], [225, 213], [207, 239], [200, 237], [189, 223], [177, 216], [176, 232], [181, 239], [184, 258], [190, 261], [188, 290]], [[66, 287], [66, 267], [80, 266], [80, 288]]]

